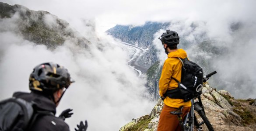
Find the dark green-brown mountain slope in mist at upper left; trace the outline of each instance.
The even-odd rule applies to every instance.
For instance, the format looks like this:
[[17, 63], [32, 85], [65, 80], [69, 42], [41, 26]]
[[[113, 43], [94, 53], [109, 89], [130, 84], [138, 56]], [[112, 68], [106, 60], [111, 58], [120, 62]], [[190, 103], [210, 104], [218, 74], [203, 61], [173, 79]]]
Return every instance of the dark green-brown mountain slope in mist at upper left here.
[[81, 46], [90, 43], [77, 31], [71, 29], [66, 21], [47, 11], [34, 11], [21, 5], [11, 6], [0, 2], [0, 18], [2, 21], [9, 21], [9, 24], [16, 23], [14, 27], [7, 23], [7, 27], [1, 28], [1, 31], [13, 31], [28, 41], [46, 45], [51, 49], [63, 45], [68, 39], [76, 41], [74, 44]]

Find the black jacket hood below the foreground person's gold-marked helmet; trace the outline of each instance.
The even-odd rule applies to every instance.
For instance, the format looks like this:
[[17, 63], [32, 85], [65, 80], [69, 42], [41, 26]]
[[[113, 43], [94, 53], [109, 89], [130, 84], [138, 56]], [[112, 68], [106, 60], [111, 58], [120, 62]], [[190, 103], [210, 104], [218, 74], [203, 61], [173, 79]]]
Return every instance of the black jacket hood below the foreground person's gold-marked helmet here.
[[35, 102], [37, 107], [42, 110], [48, 110], [53, 114], [56, 114], [56, 105], [49, 98], [35, 92], [24, 93], [24, 92], [15, 92], [13, 97], [24, 99], [28, 102]]

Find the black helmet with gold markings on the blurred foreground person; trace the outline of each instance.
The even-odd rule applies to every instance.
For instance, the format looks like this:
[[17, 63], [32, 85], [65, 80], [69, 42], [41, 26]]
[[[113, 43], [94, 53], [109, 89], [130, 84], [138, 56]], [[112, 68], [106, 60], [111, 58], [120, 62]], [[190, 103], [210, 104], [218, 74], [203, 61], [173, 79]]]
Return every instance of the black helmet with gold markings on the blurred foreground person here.
[[53, 62], [43, 63], [36, 66], [30, 74], [29, 89], [49, 94], [68, 88], [74, 82], [70, 79], [70, 74], [63, 66]]

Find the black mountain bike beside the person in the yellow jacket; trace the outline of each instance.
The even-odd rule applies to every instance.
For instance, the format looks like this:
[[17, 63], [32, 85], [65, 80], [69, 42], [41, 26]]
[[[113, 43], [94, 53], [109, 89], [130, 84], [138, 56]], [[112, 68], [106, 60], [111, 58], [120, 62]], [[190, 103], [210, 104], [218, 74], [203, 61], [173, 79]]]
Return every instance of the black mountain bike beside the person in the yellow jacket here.
[[[210, 74], [203, 76], [203, 82], [205, 83], [210, 76], [216, 74], [217, 72], [211, 72]], [[197, 100], [195, 100], [197, 98]], [[201, 100], [201, 97], [195, 97], [191, 100], [191, 107], [190, 107], [190, 111], [188, 114], [186, 114], [185, 119], [182, 121], [182, 109], [183, 106], [179, 107], [177, 110], [170, 112], [171, 114], [175, 114], [178, 116], [179, 119], [179, 125], [182, 128], [182, 131], [193, 131], [194, 126], [196, 128], [196, 131], [203, 131], [202, 125], [205, 124], [208, 128], [209, 131], [214, 131], [214, 128], [212, 127], [212, 125], [210, 124], [210, 121], [208, 120], [208, 118], [205, 115], [204, 112], [204, 108], [203, 108], [203, 103]], [[197, 112], [197, 114], [200, 115], [200, 117], [202, 118], [203, 121], [198, 121], [198, 117], [196, 117], [195, 114], [195, 110]]]

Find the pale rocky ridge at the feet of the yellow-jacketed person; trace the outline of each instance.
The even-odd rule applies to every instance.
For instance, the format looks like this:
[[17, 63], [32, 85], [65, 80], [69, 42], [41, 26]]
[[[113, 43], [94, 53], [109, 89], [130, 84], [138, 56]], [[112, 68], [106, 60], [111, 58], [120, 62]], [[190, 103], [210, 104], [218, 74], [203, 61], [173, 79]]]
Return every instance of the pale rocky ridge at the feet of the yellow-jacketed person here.
[[[256, 131], [256, 100], [236, 100], [227, 91], [213, 89], [207, 83], [203, 85], [201, 99], [215, 131]], [[150, 114], [133, 119], [120, 131], [157, 131], [163, 105], [159, 99]], [[206, 127], [203, 131], [207, 131]]]

